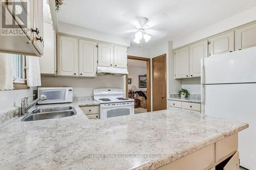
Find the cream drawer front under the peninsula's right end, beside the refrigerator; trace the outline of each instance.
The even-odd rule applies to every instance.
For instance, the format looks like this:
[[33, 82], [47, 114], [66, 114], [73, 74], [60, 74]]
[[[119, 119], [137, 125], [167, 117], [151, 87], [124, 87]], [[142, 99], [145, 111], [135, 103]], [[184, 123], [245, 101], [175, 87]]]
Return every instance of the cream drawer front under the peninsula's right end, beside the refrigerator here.
[[221, 160], [225, 156], [236, 152], [238, 150], [238, 134], [234, 134], [216, 142], [215, 150], [216, 162]]

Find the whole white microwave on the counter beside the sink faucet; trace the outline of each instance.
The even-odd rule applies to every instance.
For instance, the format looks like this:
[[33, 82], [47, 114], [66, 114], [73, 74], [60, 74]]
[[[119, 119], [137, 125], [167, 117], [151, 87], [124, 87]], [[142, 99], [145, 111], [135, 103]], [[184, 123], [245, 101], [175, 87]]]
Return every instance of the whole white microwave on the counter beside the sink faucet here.
[[37, 96], [45, 94], [47, 100], [38, 104], [56, 104], [73, 102], [73, 87], [38, 87]]

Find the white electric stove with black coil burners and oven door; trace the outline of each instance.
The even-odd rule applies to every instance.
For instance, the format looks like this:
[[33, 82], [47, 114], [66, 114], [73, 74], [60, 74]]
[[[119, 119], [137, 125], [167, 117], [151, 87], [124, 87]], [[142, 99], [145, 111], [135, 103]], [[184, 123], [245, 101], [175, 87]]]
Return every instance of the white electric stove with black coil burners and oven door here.
[[134, 100], [123, 98], [122, 89], [94, 89], [93, 97], [100, 103], [101, 119], [134, 114]]

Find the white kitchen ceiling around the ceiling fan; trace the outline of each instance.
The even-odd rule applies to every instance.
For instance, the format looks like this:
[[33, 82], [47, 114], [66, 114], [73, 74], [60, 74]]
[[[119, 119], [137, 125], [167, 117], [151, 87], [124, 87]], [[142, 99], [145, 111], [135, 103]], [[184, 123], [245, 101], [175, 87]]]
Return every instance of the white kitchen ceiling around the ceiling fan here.
[[173, 40], [256, 6], [255, 0], [64, 0], [58, 20], [134, 38], [138, 17], [147, 17], [153, 37]]

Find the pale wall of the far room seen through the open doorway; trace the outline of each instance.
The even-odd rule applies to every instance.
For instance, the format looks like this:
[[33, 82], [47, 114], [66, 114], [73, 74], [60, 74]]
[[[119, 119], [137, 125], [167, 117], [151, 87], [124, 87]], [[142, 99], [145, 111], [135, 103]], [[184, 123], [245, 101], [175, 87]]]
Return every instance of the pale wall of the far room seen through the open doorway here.
[[132, 79], [132, 84], [128, 84], [128, 89], [136, 86], [136, 90], [146, 91], [147, 88], [139, 88], [139, 75], [146, 75], [146, 68], [128, 67], [128, 72], [128, 78]]

